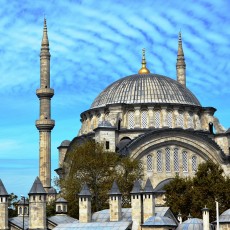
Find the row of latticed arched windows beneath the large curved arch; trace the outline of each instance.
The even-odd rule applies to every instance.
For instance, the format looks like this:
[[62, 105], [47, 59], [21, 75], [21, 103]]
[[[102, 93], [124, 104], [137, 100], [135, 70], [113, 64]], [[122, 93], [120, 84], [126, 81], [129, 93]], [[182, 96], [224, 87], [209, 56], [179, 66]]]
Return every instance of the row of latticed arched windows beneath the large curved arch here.
[[[182, 162], [179, 159], [179, 149], [174, 148], [171, 150], [170, 148], [165, 148], [163, 150], [157, 150], [156, 157], [153, 157], [151, 154], [147, 155], [146, 157], [146, 167], [147, 171], [153, 171], [153, 164], [155, 160], [156, 171], [157, 172], [179, 172], [180, 167], [182, 168], [183, 172], [188, 172], [188, 152], [182, 151]], [[164, 161], [163, 161], [164, 158]], [[164, 162], [164, 164], [163, 164]], [[197, 170], [197, 156], [192, 156], [192, 171], [196, 172]]]

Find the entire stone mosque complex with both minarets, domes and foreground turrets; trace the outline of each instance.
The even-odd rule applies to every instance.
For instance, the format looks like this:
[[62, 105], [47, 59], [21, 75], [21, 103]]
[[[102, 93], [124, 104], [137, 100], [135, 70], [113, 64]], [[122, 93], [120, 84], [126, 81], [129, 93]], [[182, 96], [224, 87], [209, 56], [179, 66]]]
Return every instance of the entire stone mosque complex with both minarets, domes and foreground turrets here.
[[[56, 172], [65, 176], [63, 164], [72, 145], [84, 139], [103, 143], [104, 148], [141, 161], [144, 179], [131, 192], [131, 208], [122, 208], [120, 190], [114, 182], [108, 194], [110, 208], [91, 213], [90, 188], [79, 193], [79, 220], [67, 215], [67, 201], [56, 200], [56, 215], [46, 217], [46, 202], [56, 197], [51, 187], [51, 119], [49, 40], [44, 20], [40, 52], [39, 177], [29, 192], [28, 203], [18, 204], [18, 216], [8, 218], [8, 193], [0, 180], [0, 229], [210, 229], [208, 208], [203, 220], [189, 217], [182, 222], [162, 205], [163, 187], [175, 174], [193, 176], [200, 163], [211, 160], [230, 175], [230, 129], [214, 116], [213, 107], [203, 107], [186, 87], [186, 64], [179, 33], [177, 80], [151, 73], [145, 50], [138, 73], [119, 79], [103, 90], [91, 107], [81, 113], [81, 129], [72, 141], [58, 147]], [[201, 207], [202, 208], [202, 207]], [[213, 223], [230, 229], [230, 210]]]

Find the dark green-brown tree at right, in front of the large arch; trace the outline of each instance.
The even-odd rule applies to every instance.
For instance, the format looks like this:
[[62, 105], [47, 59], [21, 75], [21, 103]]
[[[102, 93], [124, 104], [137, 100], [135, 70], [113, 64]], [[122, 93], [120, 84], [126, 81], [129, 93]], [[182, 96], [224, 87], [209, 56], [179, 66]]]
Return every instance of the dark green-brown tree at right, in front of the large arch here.
[[216, 204], [219, 202], [220, 213], [229, 208], [230, 179], [223, 169], [211, 161], [199, 165], [193, 178], [176, 178], [165, 186], [165, 201], [174, 214], [189, 213], [193, 217], [202, 218], [201, 209], [210, 209], [210, 220], [216, 219]]

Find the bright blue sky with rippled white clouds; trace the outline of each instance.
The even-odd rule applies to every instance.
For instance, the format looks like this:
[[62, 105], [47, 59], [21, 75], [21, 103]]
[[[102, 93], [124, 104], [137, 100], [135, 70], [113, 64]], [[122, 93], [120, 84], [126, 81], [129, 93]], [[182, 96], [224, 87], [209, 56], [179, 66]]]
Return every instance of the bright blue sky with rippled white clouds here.
[[[44, 15], [51, 52], [52, 170], [57, 147], [73, 139], [80, 113], [113, 81], [140, 68], [176, 79], [178, 32], [187, 87], [230, 127], [228, 0], [0, 0], [0, 178], [27, 195], [38, 175], [39, 52]], [[55, 173], [53, 173], [53, 176]]]

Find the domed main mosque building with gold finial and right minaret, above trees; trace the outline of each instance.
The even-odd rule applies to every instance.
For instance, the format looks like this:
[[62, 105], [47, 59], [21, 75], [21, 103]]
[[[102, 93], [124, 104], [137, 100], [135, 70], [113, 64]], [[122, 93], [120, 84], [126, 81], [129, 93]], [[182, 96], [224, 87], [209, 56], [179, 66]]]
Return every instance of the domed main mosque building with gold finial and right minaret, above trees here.
[[177, 81], [151, 73], [145, 50], [142, 66], [109, 85], [81, 113], [81, 129], [71, 142], [59, 146], [59, 169], [67, 162], [71, 145], [84, 138], [103, 143], [105, 149], [139, 159], [144, 181], [154, 187], [175, 177], [193, 176], [198, 165], [211, 160], [230, 173], [230, 129], [203, 107], [186, 87], [186, 64], [181, 33], [176, 61]]

